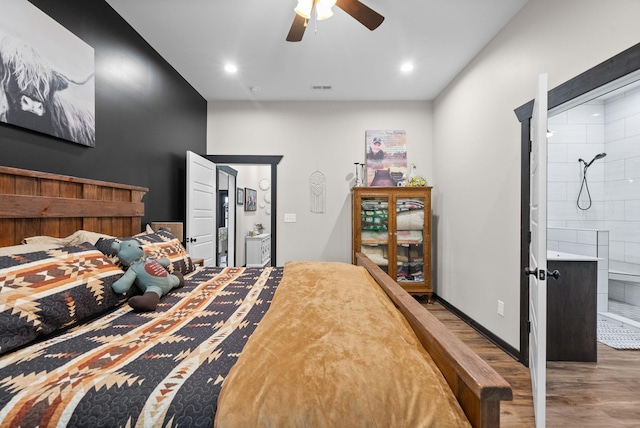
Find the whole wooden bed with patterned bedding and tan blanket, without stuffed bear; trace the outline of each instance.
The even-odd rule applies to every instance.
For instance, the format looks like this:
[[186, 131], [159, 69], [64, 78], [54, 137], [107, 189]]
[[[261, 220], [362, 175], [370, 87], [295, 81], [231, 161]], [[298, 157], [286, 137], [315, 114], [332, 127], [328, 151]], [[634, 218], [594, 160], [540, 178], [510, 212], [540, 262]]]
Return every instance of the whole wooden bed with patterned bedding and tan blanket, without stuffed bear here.
[[[1, 426], [499, 426], [509, 384], [366, 255], [196, 267], [146, 192], [0, 167]], [[125, 237], [185, 274], [154, 312], [110, 289]]]

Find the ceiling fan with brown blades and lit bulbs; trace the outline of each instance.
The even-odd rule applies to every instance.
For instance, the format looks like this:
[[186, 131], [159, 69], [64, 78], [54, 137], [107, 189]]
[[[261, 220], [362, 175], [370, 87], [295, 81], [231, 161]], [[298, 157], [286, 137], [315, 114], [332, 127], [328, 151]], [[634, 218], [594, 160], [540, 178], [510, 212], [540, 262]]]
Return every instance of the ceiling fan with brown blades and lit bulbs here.
[[384, 16], [358, 0], [298, 0], [298, 6], [295, 8], [296, 14], [293, 17], [287, 41], [301, 41], [312, 11], [315, 9], [317, 20], [327, 19], [333, 15], [331, 7], [334, 4], [371, 31], [378, 28], [384, 21]]

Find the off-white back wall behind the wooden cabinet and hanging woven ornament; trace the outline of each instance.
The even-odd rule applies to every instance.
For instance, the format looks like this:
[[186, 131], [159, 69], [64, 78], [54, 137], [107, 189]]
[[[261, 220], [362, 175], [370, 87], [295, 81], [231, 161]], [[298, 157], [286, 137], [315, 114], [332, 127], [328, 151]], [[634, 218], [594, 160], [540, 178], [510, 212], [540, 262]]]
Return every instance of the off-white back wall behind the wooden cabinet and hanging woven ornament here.
[[[405, 130], [408, 163], [432, 180], [431, 102], [210, 102], [207, 153], [282, 155], [278, 165], [278, 265], [351, 262], [354, 162], [366, 130]], [[309, 177], [326, 178], [325, 213], [309, 209]], [[239, 182], [242, 179], [239, 174]], [[284, 223], [295, 213], [296, 223]]]

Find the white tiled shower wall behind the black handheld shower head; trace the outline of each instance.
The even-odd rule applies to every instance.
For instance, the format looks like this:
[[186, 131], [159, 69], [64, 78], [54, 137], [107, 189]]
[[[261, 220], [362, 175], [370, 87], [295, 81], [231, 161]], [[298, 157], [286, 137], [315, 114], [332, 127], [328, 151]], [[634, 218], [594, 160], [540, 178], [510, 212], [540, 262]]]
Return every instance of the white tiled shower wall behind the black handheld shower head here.
[[[608, 230], [610, 271], [640, 275], [640, 88], [549, 118], [549, 130], [549, 227]], [[578, 159], [589, 162], [602, 152], [607, 156], [587, 171], [591, 208], [581, 210]], [[589, 205], [586, 188], [579, 205]], [[614, 296], [640, 305], [632, 297], [640, 297], [640, 283], [625, 286]]]

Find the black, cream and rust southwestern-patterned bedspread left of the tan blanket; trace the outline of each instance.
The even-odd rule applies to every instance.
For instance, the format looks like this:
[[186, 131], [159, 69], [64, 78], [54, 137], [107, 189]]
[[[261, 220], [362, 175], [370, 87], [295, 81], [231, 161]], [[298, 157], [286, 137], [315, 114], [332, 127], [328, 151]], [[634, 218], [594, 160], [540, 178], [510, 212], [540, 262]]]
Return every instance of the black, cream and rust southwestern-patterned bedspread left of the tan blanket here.
[[222, 381], [282, 270], [203, 268], [156, 312], [125, 304], [4, 355], [0, 426], [213, 426]]

